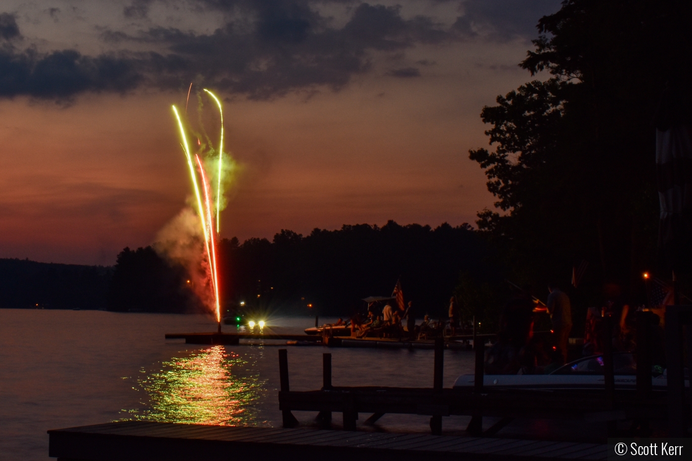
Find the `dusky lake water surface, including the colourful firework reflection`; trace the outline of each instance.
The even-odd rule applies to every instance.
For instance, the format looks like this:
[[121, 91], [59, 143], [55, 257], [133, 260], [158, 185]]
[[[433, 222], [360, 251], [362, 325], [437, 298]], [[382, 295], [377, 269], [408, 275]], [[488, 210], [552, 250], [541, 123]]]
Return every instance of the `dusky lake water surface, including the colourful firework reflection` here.
[[[266, 320], [267, 331], [286, 333], [314, 325], [314, 318]], [[280, 426], [280, 347], [289, 350], [291, 390], [322, 386], [324, 352], [332, 354], [335, 386], [432, 387], [430, 350], [164, 339], [165, 333], [213, 329], [205, 316], [0, 309], [0, 460], [46, 461], [48, 429], [120, 419]], [[473, 373], [473, 353], [447, 351], [444, 365], [444, 386], [450, 387], [459, 374]], [[295, 416], [304, 426], [314, 424], [313, 413]], [[375, 430], [428, 432], [428, 419], [385, 415]], [[340, 424], [340, 415], [334, 422]], [[462, 431], [467, 422], [446, 417], [444, 428]]]

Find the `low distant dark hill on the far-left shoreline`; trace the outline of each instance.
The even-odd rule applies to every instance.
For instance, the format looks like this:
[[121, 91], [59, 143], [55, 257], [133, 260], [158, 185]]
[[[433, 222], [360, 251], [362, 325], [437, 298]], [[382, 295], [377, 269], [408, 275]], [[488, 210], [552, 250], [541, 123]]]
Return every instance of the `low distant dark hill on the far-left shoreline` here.
[[0, 308], [104, 309], [113, 268], [0, 259]]

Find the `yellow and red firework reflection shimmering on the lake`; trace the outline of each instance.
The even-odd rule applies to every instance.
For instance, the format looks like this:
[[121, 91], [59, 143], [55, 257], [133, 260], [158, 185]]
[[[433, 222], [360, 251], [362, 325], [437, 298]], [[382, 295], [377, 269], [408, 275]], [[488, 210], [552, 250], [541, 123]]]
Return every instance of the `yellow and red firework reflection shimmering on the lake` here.
[[128, 419], [197, 424], [257, 424], [253, 401], [264, 382], [248, 361], [221, 345], [162, 363], [161, 371], [138, 379], [148, 408], [131, 410]]

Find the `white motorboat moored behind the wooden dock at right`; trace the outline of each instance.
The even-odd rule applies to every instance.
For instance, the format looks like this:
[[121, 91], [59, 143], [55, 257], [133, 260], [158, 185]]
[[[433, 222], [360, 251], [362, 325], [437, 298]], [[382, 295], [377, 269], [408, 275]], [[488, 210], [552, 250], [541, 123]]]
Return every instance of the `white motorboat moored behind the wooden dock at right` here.
[[[615, 388], [635, 390], [637, 387], [637, 365], [629, 352], [613, 354]], [[689, 387], [688, 372], [685, 370], [685, 386]], [[666, 390], [666, 370], [652, 373], [653, 390]], [[454, 383], [455, 389], [472, 388], [473, 374], [462, 374]], [[485, 374], [483, 386], [488, 388], [542, 389], [542, 390], [595, 390], [605, 387], [603, 356], [593, 355], [567, 363], [549, 374]]]

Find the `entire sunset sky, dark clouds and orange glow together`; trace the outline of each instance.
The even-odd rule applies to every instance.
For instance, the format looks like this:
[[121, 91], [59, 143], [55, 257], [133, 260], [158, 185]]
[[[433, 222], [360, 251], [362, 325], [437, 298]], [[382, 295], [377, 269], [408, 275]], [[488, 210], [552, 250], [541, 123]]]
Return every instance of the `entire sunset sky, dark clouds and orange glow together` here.
[[[113, 264], [190, 182], [171, 105], [224, 98], [221, 236], [473, 223], [479, 114], [558, 0], [15, 1], [0, 10], [0, 257]], [[544, 76], [538, 75], [538, 78]]]

